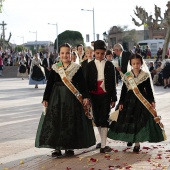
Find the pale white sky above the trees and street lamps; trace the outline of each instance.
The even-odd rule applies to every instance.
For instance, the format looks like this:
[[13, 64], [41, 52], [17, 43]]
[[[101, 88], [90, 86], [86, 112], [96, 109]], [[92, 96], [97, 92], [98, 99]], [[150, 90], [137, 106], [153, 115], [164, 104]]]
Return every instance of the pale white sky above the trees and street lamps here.
[[[1, 15], [1, 22], [5, 21], [6, 39], [12, 33], [11, 42], [22, 44], [35, 41], [37, 31], [38, 41], [54, 41], [56, 26], [58, 34], [65, 30], [80, 31], [85, 38], [90, 34], [93, 40], [93, 12], [94, 7], [95, 33], [108, 31], [112, 26], [127, 25], [129, 29], [143, 29], [136, 27], [130, 15], [135, 17], [133, 10], [136, 5], [146, 9], [148, 14], [154, 15], [154, 4], [161, 7], [162, 16], [167, 9], [167, 0], [5, 0]], [[137, 19], [137, 18], [136, 18]], [[24, 37], [24, 38], [21, 38]], [[88, 43], [87, 43], [88, 45]]]

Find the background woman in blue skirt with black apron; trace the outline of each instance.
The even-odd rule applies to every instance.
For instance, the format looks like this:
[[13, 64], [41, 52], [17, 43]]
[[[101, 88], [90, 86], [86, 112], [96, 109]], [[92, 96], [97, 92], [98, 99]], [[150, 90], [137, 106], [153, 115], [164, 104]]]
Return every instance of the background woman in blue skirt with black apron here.
[[42, 62], [37, 53], [31, 62], [29, 78], [29, 84], [35, 85], [35, 88], [38, 88], [38, 84], [46, 84], [44, 68], [41, 65]]

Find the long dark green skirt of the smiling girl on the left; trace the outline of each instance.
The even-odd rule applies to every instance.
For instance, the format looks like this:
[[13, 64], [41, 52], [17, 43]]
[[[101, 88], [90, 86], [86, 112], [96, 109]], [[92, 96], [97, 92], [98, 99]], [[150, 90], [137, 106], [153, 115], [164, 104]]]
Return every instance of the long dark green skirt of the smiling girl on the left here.
[[35, 146], [53, 149], [82, 149], [95, 145], [92, 121], [77, 98], [64, 85], [54, 85], [47, 113], [41, 115]]

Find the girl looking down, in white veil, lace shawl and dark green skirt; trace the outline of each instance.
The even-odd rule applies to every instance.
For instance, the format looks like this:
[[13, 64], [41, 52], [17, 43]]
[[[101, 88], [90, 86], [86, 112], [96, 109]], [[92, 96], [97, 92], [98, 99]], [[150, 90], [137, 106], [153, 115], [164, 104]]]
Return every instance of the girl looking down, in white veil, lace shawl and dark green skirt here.
[[[140, 54], [133, 54], [130, 58], [132, 70], [123, 75], [123, 86], [119, 100], [119, 116], [117, 122], [113, 121], [108, 132], [108, 137], [114, 140], [128, 142], [128, 146], [135, 143], [133, 152], [139, 152], [139, 142], [161, 142], [164, 140], [163, 130], [156, 123], [152, 113], [145, 103], [139, 100], [135, 89], [139, 89], [142, 96], [155, 109], [152, 79]], [[141, 67], [142, 66], [142, 67]], [[146, 68], [148, 72], [142, 69]], [[130, 76], [133, 81], [129, 81]], [[132, 84], [135, 82], [136, 86]]]

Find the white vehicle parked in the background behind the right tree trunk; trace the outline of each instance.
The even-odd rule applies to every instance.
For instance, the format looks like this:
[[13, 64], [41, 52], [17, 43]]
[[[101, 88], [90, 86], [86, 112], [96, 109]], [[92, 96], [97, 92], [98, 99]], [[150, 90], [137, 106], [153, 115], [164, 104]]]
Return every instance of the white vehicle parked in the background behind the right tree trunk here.
[[[149, 46], [149, 48], [151, 49], [151, 57], [155, 57], [157, 56], [157, 51], [159, 48], [163, 48], [163, 44], [164, 44], [163, 39], [150, 39], [150, 40], [142, 40], [139, 41], [138, 44], [141, 47], [141, 50], [145, 50], [146, 49], [146, 45]], [[169, 44], [170, 45], [170, 44]]]

